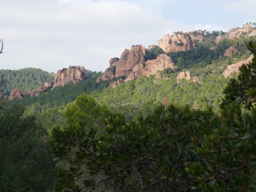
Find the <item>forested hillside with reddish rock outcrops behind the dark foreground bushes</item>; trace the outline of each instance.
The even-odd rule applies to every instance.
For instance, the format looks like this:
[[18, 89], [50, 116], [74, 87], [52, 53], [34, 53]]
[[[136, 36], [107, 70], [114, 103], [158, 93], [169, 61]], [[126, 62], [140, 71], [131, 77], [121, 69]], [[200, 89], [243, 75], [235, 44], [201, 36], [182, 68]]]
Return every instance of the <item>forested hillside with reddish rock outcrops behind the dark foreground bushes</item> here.
[[[54, 80], [50, 76], [49, 88], [42, 86], [45, 81], [41, 87], [34, 85], [37, 88], [26, 92], [25, 84], [17, 88], [24, 92], [21, 102], [26, 106], [37, 105], [39, 112], [74, 101], [81, 93], [92, 94], [100, 104], [107, 104], [114, 112], [127, 117], [146, 115], [164, 100], [167, 104], [189, 105], [193, 109], [213, 107], [217, 112], [222, 90], [232, 72], [238, 70], [236, 63], [242, 64], [250, 56], [246, 42], [254, 38], [255, 31], [249, 25], [227, 33], [178, 31], [172, 36], [165, 35], [158, 41], [159, 45], [148, 48], [134, 45], [131, 50], [124, 50], [120, 58], [110, 58], [108, 69], [102, 74], [70, 66], [60, 69]], [[6, 86], [4, 83], [3, 88]], [[59, 86], [64, 87], [56, 89]], [[9, 92], [4, 90], [8, 96], [10, 88]], [[37, 97], [32, 99], [32, 96]]]

